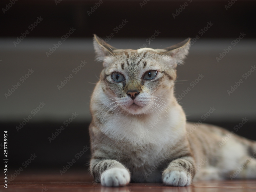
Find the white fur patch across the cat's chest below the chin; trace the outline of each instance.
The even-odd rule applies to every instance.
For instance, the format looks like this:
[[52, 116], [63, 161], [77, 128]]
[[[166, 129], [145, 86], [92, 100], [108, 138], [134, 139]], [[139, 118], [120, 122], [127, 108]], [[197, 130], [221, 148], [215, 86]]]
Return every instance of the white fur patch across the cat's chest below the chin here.
[[159, 150], [163, 145], [172, 145], [175, 141], [174, 131], [171, 130], [168, 121], [148, 120], [144, 122], [118, 119], [111, 126], [104, 127], [102, 131], [114, 141], [128, 141], [131, 144], [144, 146], [151, 143]]

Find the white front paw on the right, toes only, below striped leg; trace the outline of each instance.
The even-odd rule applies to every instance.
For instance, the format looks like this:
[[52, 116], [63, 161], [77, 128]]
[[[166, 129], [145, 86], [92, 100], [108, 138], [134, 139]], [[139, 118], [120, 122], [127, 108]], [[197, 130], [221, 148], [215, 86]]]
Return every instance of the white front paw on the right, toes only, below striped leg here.
[[191, 184], [191, 176], [186, 171], [165, 170], [163, 173], [163, 183], [171, 186], [188, 186]]

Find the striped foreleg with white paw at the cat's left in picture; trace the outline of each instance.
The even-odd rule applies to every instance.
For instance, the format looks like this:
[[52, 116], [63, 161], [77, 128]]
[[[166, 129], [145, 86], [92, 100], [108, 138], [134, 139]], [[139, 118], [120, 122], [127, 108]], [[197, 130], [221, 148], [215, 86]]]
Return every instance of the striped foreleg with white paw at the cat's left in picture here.
[[95, 181], [107, 187], [125, 186], [131, 179], [129, 169], [115, 160], [92, 159], [90, 169]]

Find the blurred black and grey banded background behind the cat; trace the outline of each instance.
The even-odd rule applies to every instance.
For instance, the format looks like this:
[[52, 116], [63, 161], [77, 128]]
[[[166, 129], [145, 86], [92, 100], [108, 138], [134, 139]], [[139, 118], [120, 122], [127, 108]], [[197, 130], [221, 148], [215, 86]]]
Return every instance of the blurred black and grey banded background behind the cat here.
[[256, 140], [255, 1], [9, 0], [0, 8], [0, 151], [8, 131], [11, 174], [58, 173], [73, 159], [70, 169], [87, 170], [90, 95], [103, 68], [92, 34], [122, 49], [190, 37], [175, 87], [188, 121]]

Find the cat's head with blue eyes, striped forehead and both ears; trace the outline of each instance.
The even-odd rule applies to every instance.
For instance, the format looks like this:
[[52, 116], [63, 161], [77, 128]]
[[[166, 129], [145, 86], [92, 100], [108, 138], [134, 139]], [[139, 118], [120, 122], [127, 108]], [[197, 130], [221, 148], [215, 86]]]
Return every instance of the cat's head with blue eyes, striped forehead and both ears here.
[[[96, 59], [103, 61], [100, 83], [113, 110], [130, 114], [167, 111], [176, 67], [185, 59], [190, 38], [164, 49], [116, 49], [94, 35]], [[102, 101], [104, 102], [104, 101]]]

